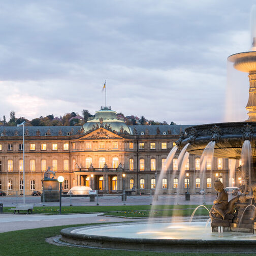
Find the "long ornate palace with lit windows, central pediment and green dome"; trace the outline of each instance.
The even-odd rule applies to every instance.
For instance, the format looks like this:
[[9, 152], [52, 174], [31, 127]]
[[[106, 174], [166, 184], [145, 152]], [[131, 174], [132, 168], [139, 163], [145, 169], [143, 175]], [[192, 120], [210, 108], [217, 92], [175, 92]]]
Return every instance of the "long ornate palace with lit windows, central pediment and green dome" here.
[[[180, 131], [189, 125], [127, 126], [117, 120], [111, 107], [102, 107], [83, 126], [25, 126], [25, 190], [42, 189], [48, 167], [63, 176], [64, 190], [86, 185], [102, 193], [118, 193], [123, 188], [148, 194], [155, 189], [167, 156]], [[23, 189], [23, 127], [0, 127], [0, 190], [20, 195]], [[200, 174], [200, 156], [190, 155], [185, 173], [179, 177], [179, 151], [161, 177], [163, 193], [197, 193], [200, 188], [213, 192], [216, 174], [225, 186], [229, 161], [213, 158], [207, 162], [205, 177]], [[123, 174], [125, 178], [123, 181]], [[179, 180], [181, 179], [181, 180]], [[238, 182], [232, 178], [232, 184]], [[179, 182], [181, 181], [181, 182]]]

